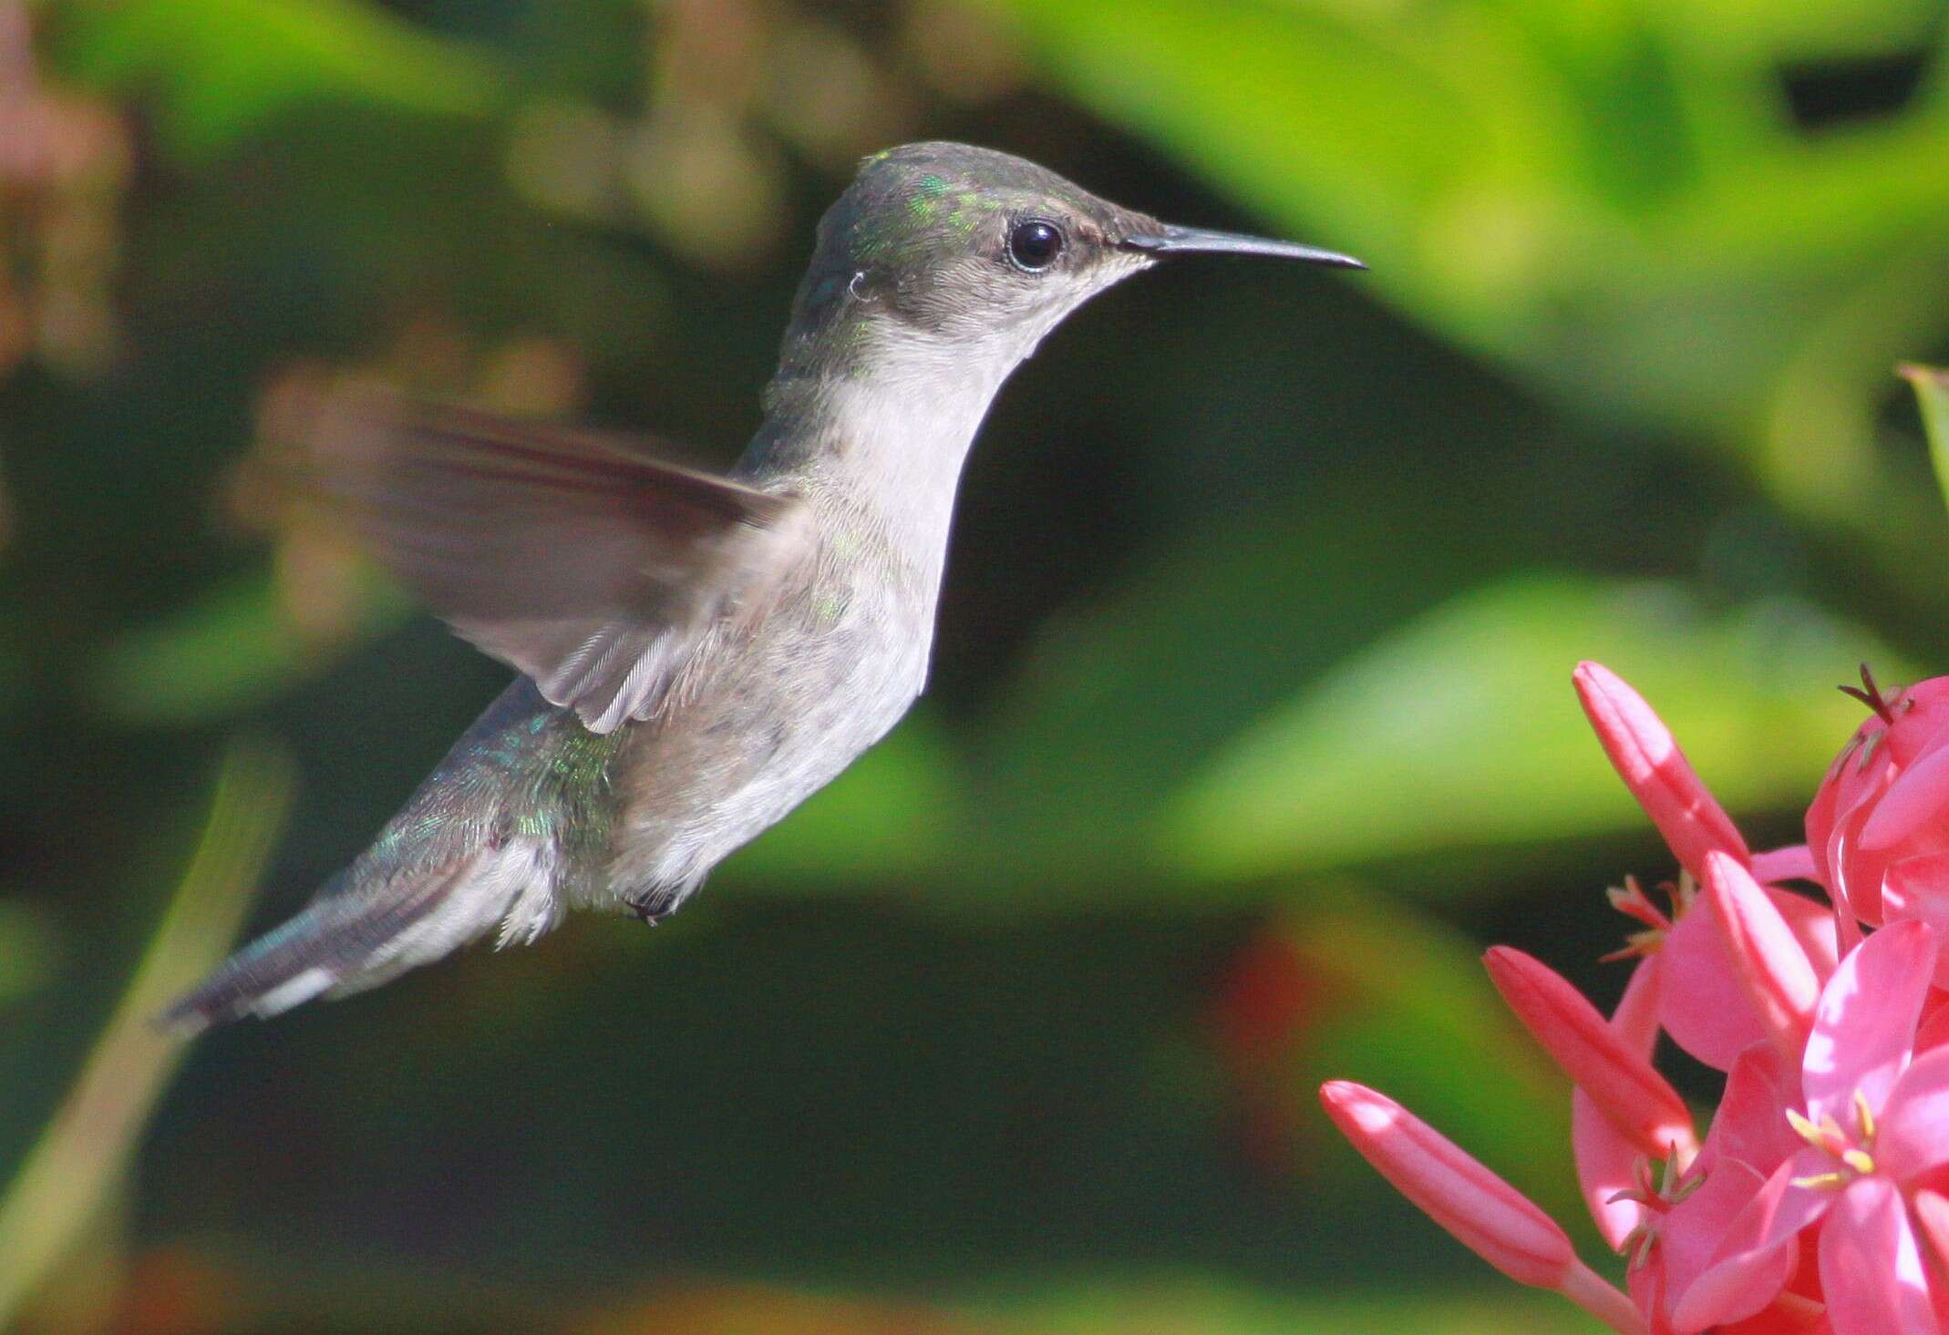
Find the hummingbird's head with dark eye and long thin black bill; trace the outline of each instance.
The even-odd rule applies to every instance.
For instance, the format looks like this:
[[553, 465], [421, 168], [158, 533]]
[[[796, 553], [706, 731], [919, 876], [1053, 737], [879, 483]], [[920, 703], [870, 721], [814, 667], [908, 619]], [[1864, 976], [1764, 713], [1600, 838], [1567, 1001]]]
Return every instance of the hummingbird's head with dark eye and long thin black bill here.
[[1310, 246], [1167, 226], [992, 148], [891, 148], [860, 164], [819, 222], [787, 359], [885, 357], [891, 341], [906, 357], [1006, 376], [1086, 300], [1187, 251], [1360, 267]]

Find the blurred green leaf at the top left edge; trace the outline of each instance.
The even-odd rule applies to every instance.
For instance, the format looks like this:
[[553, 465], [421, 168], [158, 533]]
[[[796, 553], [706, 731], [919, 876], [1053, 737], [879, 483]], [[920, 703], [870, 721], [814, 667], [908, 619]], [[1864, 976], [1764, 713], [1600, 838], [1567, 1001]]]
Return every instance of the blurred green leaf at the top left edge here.
[[497, 95], [483, 55], [357, 0], [125, 0], [74, 6], [64, 23], [68, 72], [117, 92], [154, 88], [164, 136], [187, 158], [306, 99], [481, 115]]

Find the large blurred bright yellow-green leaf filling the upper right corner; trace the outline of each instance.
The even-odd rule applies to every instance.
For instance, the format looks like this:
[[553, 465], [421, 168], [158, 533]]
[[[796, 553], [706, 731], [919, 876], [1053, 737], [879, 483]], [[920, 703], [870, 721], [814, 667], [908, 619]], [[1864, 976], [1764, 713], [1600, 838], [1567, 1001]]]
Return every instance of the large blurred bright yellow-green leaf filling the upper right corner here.
[[1705, 431], [1863, 538], [1873, 407], [1949, 329], [1949, 97], [1805, 133], [1781, 64], [1933, 53], [1914, 0], [992, 0], [1049, 76], [1585, 409]]

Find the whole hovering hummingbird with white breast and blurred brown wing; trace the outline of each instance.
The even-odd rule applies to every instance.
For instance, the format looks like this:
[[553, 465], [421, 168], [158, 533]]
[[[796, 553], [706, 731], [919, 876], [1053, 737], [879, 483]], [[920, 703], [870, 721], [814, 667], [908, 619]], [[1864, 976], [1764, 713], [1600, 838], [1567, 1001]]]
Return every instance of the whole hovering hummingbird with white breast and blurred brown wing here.
[[164, 1021], [361, 992], [569, 908], [674, 912], [928, 678], [955, 489], [1010, 372], [1189, 253], [1360, 269], [1167, 226], [988, 148], [865, 158], [819, 222], [764, 423], [729, 476], [573, 431], [343, 392], [306, 483], [520, 676], [296, 918]]

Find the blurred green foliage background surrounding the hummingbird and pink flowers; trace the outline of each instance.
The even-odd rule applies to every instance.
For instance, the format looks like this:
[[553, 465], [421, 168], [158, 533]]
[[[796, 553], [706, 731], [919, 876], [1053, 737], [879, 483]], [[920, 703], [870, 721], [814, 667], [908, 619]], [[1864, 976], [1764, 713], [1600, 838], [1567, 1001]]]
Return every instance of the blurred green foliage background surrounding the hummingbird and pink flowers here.
[[[1600, 891], [1670, 871], [1573, 663], [1762, 846], [1830, 686], [1943, 663], [1891, 368], [1949, 351], [1945, 41], [1933, 0], [0, 4], [0, 1181], [80, 1220], [25, 1321], [1588, 1329], [1312, 1087], [1573, 1222], [1561, 1082], [1471, 959], [1614, 994]], [[302, 776], [269, 920], [503, 680], [265, 491], [288, 392], [729, 458], [819, 210], [918, 136], [1372, 275], [1173, 267], [1051, 339], [928, 702], [672, 924], [212, 1035], [129, 1171], [144, 1052], [74, 1140], [212, 756]], [[18, 1167], [51, 1144], [97, 1154]]]

